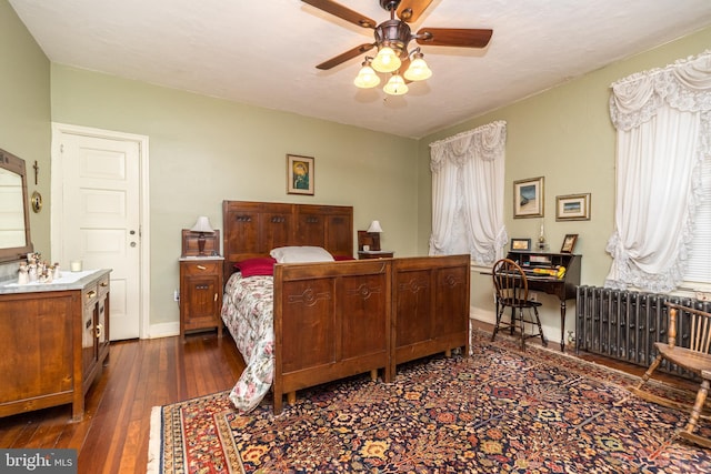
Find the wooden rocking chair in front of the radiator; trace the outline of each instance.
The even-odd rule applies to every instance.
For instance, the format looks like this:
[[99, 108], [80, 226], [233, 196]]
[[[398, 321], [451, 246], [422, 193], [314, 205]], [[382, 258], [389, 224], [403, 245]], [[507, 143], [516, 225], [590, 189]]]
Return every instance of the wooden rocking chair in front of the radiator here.
[[[703, 413], [703, 405], [705, 403], [711, 382], [711, 354], [709, 354], [709, 350], [711, 349], [711, 313], [695, 310], [693, 307], [681, 306], [674, 303], [667, 303], [667, 306], [669, 306], [669, 342], [654, 343], [654, 347], [659, 352], [659, 355], [654, 361], [652, 361], [644, 375], [642, 375], [640, 383], [635, 387], [631, 387], [630, 391], [644, 400], [660, 405], [679, 410], [691, 410], [687, 426], [683, 430], [678, 431], [675, 434], [684, 440], [691, 441], [692, 443], [704, 447], [711, 447], [710, 438], [702, 437], [693, 433], [700, 417], [709, 418], [708, 413]], [[684, 315], [689, 317], [688, 327], [690, 330], [690, 347], [680, 347], [677, 345], [679, 324]], [[687, 327], [687, 325], [684, 325], [684, 327]], [[697, 392], [697, 400], [693, 405], [669, 400], [642, 390], [642, 385], [649, 381], [652, 373], [657, 367], [659, 367], [662, 361], [677, 364], [701, 377], [699, 391]]]

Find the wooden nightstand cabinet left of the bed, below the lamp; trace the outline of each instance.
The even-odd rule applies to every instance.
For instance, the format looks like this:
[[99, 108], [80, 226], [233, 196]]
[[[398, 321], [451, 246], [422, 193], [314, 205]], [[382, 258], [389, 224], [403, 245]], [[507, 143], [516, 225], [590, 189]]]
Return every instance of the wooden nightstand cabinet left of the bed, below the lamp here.
[[180, 336], [187, 331], [218, 329], [222, 337], [222, 256], [180, 259]]

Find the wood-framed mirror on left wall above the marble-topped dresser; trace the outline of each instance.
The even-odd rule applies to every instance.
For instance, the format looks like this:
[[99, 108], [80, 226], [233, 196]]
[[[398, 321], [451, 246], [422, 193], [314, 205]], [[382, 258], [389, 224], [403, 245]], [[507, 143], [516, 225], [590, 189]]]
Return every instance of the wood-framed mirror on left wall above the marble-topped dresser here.
[[0, 150], [0, 263], [32, 252], [24, 160]]

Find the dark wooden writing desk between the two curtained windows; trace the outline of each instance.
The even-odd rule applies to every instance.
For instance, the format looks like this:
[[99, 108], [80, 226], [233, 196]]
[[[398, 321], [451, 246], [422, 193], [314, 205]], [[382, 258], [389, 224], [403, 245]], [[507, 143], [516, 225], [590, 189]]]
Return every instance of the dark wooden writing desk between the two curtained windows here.
[[[582, 255], [572, 253], [548, 252], [509, 252], [507, 259], [517, 262], [524, 272], [530, 291], [558, 296], [560, 300], [560, 350], [565, 350], [565, 302], [575, 299], [575, 290], [580, 285], [580, 264]], [[564, 266], [565, 275], [562, 279], [555, 276], [538, 276], [532, 274], [534, 268]]]

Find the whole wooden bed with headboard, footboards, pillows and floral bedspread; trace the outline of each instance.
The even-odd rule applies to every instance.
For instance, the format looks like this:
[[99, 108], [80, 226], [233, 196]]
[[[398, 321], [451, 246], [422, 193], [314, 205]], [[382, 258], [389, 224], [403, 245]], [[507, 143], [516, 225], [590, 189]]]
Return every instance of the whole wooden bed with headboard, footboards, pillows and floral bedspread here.
[[[291, 403], [361, 373], [390, 382], [400, 363], [468, 353], [469, 255], [352, 260], [351, 206], [224, 201], [222, 211], [222, 320], [247, 365], [230, 394], [237, 409], [271, 389], [279, 414], [284, 394]], [[336, 261], [242, 270], [269, 266], [284, 246], [322, 248]]]

